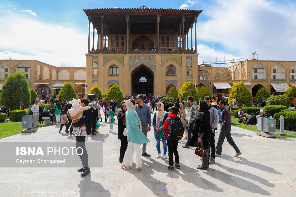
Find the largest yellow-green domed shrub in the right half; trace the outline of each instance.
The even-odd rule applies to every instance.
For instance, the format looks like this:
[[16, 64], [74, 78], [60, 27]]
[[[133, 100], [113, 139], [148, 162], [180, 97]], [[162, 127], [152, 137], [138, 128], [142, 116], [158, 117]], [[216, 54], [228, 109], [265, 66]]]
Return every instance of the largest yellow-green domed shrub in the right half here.
[[246, 107], [252, 106], [252, 94], [242, 81], [233, 84], [228, 95], [229, 106], [232, 104], [232, 99], [236, 100], [238, 109], [242, 107], [243, 103]]

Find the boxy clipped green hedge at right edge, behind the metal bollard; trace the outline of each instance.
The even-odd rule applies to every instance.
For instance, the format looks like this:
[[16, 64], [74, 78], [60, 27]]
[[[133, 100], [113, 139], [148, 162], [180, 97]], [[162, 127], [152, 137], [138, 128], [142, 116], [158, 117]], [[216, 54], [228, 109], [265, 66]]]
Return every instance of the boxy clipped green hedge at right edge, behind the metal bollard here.
[[290, 131], [296, 131], [296, 111], [281, 111], [274, 115], [276, 119], [276, 128], [279, 128], [279, 118], [280, 116], [284, 116], [284, 129]]

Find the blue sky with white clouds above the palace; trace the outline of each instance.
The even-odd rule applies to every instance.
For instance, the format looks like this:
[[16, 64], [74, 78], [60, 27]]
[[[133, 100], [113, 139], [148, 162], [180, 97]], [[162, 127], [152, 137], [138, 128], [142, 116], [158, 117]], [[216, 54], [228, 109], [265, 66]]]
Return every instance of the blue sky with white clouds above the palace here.
[[[259, 60], [296, 60], [294, 0], [1, 0], [0, 59], [85, 67], [89, 28], [82, 9], [142, 5], [203, 10], [197, 19], [199, 62], [245, 59], [255, 51]], [[190, 37], [189, 31], [189, 43]]]

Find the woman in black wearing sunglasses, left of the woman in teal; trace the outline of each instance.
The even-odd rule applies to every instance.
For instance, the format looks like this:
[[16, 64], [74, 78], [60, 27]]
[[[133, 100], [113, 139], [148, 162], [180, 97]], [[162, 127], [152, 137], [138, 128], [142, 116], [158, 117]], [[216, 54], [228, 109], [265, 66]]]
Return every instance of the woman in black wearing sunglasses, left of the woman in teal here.
[[128, 146], [128, 139], [123, 135], [123, 130], [126, 128], [126, 102], [121, 102], [121, 111], [117, 113], [118, 120], [118, 139], [120, 139], [120, 154], [119, 162], [122, 163], [123, 156], [126, 153], [126, 147]]

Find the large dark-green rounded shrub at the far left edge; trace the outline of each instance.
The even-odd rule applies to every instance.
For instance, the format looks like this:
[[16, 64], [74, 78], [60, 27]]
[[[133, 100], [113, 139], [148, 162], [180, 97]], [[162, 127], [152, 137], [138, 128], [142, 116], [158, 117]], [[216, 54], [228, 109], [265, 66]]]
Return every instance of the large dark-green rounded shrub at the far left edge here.
[[14, 72], [8, 75], [1, 90], [1, 104], [11, 110], [20, 109], [19, 101], [29, 107], [31, 92], [28, 81], [21, 72]]

